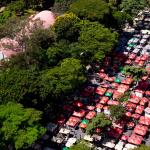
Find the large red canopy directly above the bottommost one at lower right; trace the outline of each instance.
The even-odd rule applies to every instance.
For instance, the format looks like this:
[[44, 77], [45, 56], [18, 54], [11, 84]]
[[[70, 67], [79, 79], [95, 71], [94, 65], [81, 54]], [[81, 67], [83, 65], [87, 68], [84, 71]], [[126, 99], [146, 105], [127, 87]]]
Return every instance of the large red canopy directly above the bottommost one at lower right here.
[[139, 135], [146, 135], [148, 131], [148, 127], [147, 126], [143, 126], [141, 124], [137, 124], [134, 128], [134, 133], [139, 134]]

